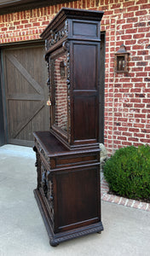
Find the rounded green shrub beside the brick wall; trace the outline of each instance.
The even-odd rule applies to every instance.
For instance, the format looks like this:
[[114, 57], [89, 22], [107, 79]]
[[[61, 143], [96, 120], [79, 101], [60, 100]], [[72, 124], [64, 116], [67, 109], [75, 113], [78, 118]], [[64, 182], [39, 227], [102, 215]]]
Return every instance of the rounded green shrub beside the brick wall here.
[[107, 160], [104, 177], [114, 194], [150, 201], [150, 147], [119, 148]]

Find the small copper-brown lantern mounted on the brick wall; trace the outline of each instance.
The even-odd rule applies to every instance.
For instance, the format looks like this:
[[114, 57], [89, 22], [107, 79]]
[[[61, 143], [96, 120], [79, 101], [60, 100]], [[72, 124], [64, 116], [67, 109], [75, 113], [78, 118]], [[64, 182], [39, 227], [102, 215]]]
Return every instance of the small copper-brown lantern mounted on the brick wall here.
[[114, 58], [114, 71], [116, 73], [128, 73], [130, 53], [126, 51], [124, 44], [120, 46]]

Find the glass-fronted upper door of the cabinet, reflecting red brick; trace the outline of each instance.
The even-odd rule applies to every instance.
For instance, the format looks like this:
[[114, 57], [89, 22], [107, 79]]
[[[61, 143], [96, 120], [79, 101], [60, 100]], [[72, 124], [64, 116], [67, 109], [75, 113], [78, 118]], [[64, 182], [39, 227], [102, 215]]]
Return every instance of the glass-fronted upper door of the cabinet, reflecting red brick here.
[[66, 51], [61, 48], [55, 50], [49, 57], [50, 63], [50, 96], [51, 116], [50, 128], [56, 134], [68, 137], [68, 103], [66, 84]]

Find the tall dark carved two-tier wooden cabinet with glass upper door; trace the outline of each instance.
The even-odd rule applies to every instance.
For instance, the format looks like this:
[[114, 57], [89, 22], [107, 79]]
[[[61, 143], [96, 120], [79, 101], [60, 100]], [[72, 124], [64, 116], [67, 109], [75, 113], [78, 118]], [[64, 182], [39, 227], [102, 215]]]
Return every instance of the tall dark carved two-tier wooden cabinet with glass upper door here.
[[34, 190], [50, 245], [99, 233], [99, 101], [103, 12], [63, 8], [41, 34], [48, 66], [49, 131], [34, 132]]

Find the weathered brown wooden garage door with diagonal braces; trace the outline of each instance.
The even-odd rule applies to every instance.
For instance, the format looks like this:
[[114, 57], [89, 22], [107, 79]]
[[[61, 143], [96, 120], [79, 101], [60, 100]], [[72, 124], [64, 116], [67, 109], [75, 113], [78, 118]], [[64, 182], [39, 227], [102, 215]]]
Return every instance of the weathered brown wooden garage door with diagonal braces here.
[[43, 45], [3, 50], [8, 143], [32, 146], [33, 131], [49, 130], [44, 52]]

